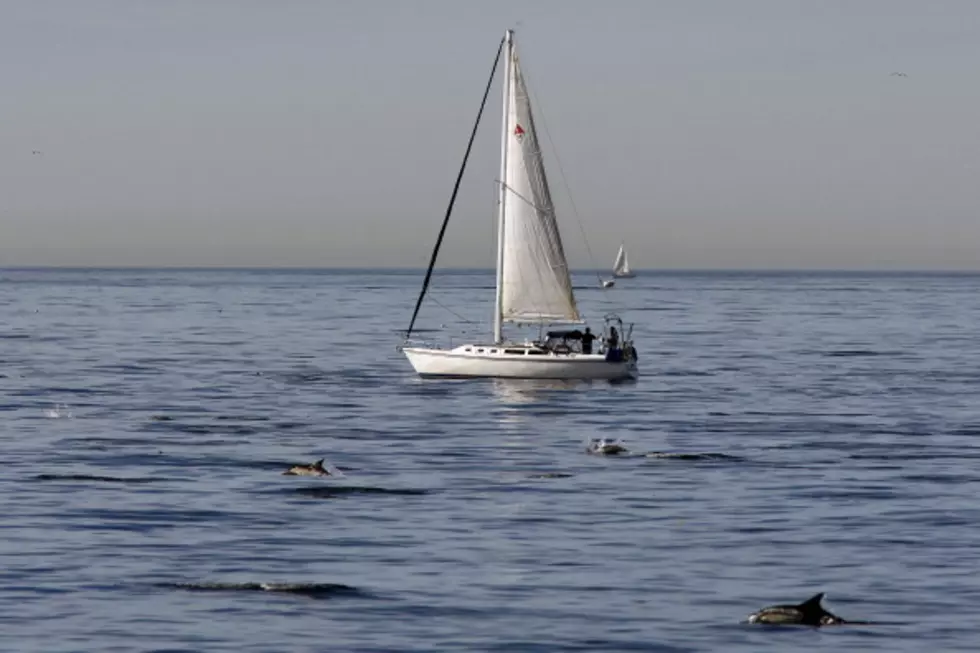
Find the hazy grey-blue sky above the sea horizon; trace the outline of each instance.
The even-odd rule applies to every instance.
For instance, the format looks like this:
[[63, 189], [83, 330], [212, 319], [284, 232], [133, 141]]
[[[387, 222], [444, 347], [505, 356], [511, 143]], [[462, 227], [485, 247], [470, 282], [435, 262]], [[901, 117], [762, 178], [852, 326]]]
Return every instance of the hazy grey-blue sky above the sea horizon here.
[[[572, 267], [980, 269], [975, 0], [0, 16], [0, 267], [424, 267], [515, 27]], [[497, 82], [440, 266], [494, 265]]]

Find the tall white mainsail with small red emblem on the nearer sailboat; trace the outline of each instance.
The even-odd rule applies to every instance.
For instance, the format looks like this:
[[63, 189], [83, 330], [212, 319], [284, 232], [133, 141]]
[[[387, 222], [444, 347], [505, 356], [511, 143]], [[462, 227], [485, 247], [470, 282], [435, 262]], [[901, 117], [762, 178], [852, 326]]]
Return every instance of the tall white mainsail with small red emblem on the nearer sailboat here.
[[504, 124], [505, 138], [510, 141], [504, 175], [501, 316], [508, 322], [578, 322], [581, 317], [558, 233], [531, 101], [513, 48], [510, 57]]

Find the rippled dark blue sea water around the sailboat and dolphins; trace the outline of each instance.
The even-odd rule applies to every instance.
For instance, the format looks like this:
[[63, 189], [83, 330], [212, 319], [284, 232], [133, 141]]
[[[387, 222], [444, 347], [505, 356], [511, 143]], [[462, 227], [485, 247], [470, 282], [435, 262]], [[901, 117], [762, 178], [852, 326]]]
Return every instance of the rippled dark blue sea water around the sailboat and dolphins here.
[[579, 275], [615, 386], [417, 379], [420, 277], [0, 272], [0, 648], [976, 649], [980, 277]]

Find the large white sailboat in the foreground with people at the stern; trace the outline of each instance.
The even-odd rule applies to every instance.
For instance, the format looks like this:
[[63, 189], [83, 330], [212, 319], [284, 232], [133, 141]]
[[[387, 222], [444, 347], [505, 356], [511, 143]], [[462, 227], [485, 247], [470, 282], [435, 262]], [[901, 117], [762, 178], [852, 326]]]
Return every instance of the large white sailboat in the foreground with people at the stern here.
[[[585, 327], [585, 321], [572, 291], [568, 262], [534, 126], [530, 96], [514, 47], [513, 34], [513, 30], [507, 30], [497, 49], [449, 208], [415, 304], [405, 343], [400, 349], [415, 372], [423, 377], [634, 378], [638, 371], [632, 325], [625, 331], [617, 315], [606, 315], [603, 337], [598, 339], [596, 352], [592, 351], [592, 340], [596, 336], [588, 329], [583, 332], [578, 328]], [[428, 343], [416, 345], [411, 340], [412, 328], [432, 276], [501, 55], [504, 73], [493, 337], [484, 342], [449, 349]], [[504, 323], [538, 326], [539, 336], [534, 340], [507, 340], [503, 334]], [[547, 337], [544, 337], [545, 326], [555, 325], [564, 328], [547, 331]]]

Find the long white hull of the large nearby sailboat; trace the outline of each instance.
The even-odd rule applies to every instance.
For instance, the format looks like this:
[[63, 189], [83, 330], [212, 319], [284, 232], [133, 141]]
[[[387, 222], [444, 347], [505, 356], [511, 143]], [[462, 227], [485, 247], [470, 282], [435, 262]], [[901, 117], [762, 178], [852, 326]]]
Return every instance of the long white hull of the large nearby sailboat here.
[[[508, 354], [507, 349], [522, 353]], [[612, 380], [638, 374], [636, 361], [608, 362], [603, 354], [529, 355], [523, 353], [525, 349], [520, 345], [462, 345], [451, 350], [405, 347], [403, 351], [419, 376]]]

